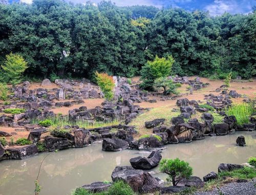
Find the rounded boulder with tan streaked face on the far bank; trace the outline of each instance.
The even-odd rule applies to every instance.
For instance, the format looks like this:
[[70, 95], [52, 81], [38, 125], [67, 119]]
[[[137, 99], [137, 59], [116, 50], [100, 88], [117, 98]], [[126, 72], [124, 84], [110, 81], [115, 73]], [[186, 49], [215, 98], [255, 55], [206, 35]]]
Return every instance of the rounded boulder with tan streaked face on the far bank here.
[[174, 126], [173, 133], [176, 135], [179, 142], [191, 142], [193, 139], [193, 131], [195, 130], [194, 127], [186, 123], [178, 124]]

